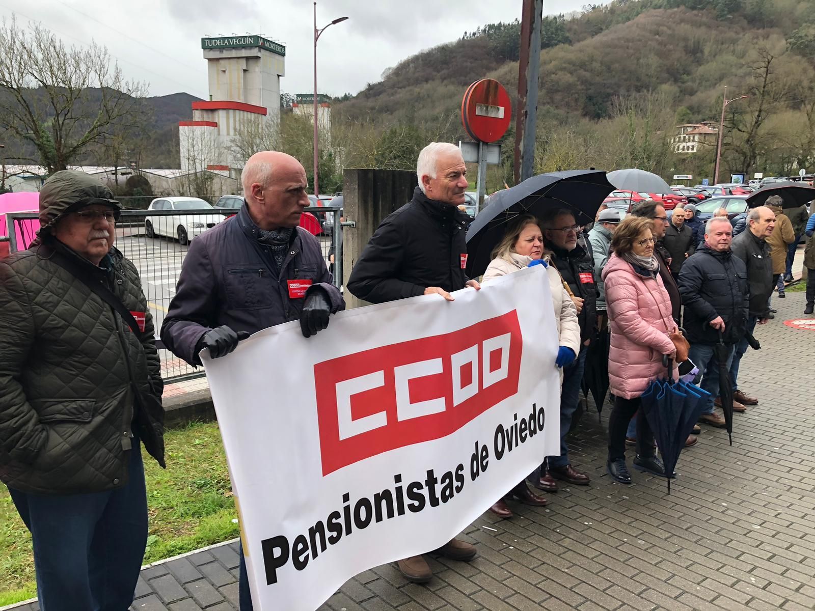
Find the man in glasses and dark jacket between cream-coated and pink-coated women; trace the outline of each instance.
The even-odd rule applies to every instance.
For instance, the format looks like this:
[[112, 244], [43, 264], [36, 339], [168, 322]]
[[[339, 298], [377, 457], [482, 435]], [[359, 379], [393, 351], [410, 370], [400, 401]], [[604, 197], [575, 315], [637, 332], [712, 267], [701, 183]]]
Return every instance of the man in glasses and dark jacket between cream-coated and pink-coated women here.
[[588, 486], [588, 474], [575, 469], [566, 447], [566, 433], [571, 429], [571, 419], [577, 410], [580, 382], [586, 364], [586, 348], [597, 331], [597, 278], [594, 275], [594, 261], [587, 248], [578, 244], [581, 231], [574, 213], [568, 209], [555, 209], [540, 219], [544, 230], [546, 248], [552, 251], [552, 264], [560, 272], [563, 284], [568, 288], [572, 301], [577, 307], [580, 324], [580, 351], [575, 360], [563, 367], [561, 389], [561, 454], [548, 456], [546, 465], [541, 465], [540, 481], [535, 482], [541, 490], [557, 490], [555, 479], [577, 486]]

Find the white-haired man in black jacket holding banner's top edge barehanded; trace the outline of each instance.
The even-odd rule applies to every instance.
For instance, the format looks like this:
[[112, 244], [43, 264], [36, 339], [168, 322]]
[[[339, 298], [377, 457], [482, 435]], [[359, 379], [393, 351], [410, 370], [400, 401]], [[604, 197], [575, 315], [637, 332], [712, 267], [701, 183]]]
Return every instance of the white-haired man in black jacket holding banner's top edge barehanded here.
[[[465, 275], [469, 217], [458, 209], [465, 201], [467, 168], [458, 147], [430, 143], [416, 164], [419, 186], [413, 199], [385, 218], [351, 271], [348, 290], [372, 303], [481, 288]], [[436, 550], [453, 560], [473, 560], [475, 547], [452, 539]], [[433, 573], [422, 556], [399, 560], [410, 581], [430, 581]]]

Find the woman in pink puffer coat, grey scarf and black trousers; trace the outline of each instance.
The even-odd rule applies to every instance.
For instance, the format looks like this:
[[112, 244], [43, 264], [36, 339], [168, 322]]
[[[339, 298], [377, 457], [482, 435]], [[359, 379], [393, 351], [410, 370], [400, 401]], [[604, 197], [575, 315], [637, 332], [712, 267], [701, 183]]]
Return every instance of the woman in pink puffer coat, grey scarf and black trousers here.
[[609, 416], [609, 455], [606, 468], [621, 484], [630, 484], [625, 464], [625, 431], [637, 412], [637, 457], [634, 467], [665, 477], [654, 453], [654, 435], [640, 407], [650, 382], [665, 376], [663, 355], [674, 356], [669, 335], [676, 332], [671, 298], [659, 277], [650, 218], [628, 217], [611, 240], [611, 255], [602, 278], [611, 328], [609, 382], [615, 395]]

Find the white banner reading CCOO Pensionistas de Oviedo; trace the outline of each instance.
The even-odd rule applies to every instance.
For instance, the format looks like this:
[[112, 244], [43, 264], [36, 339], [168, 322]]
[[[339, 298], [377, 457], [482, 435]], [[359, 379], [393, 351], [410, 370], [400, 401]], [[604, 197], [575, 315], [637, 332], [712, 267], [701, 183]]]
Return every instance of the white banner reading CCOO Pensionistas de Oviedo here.
[[442, 546], [559, 451], [545, 270], [453, 294], [201, 353], [258, 611], [314, 611], [355, 574]]

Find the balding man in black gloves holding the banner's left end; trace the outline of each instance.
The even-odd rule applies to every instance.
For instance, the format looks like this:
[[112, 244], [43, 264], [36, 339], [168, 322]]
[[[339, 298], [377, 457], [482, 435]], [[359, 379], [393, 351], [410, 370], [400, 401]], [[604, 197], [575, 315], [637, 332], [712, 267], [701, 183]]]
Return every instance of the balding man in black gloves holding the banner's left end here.
[[[240, 178], [243, 207], [192, 240], [161, 325], [166, 348], [192, 365], [203, 349], [222, 357], [251, 333], [291, 320], [312, 336], [346, 307], [319, 242], [298, 226], [309, 204], [300, 162], [258, 152]], [[242, 549], [238, 589], [240, 610], [251, 611]]]

